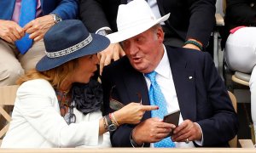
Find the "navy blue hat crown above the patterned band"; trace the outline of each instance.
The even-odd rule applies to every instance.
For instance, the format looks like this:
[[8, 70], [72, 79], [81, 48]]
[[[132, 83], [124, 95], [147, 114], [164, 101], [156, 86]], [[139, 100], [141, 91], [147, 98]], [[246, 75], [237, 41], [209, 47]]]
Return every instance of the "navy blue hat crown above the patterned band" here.
[[52, 53], [70, 48], [84, 41], [89, 35], [89, 31], [84, 28], [80, 20], [61, 21], [45, 33], [45, 49], [48, 53]]

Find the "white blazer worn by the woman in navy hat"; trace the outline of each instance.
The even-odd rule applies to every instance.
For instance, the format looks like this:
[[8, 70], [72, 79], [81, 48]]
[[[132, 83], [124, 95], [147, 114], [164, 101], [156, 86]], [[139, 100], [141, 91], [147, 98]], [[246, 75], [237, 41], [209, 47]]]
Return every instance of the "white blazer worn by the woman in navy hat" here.
[[101, 111], [84, 116], [74, 109], [76, 123], [60, 115], [55, 90], [44, 79], [24, 82], [17, 91], [9, 130], [2, 148], [109, 147], [109, 133], [99, 135]]

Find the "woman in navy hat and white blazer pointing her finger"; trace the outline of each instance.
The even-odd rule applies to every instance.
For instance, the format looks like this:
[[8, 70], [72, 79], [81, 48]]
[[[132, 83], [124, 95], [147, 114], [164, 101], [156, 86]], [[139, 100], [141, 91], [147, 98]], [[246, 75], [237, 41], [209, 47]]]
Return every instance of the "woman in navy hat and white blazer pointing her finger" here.
[[[87, 83], [96, 71], [96, 53], [107, 48], [106, 37], [87, 31], [79, 20], [64, 20], [44, 36], [46, 56], [36, 70], [18, 80], [15, 108], [2, 147], [110, 146], [111, 125], [140, 122], [157, 106], [132, 103], [102, 117], [100, 105], [86, 113], [76, 109], [73, 82]], [[85, 114], [85, 115], [84, 115]]]

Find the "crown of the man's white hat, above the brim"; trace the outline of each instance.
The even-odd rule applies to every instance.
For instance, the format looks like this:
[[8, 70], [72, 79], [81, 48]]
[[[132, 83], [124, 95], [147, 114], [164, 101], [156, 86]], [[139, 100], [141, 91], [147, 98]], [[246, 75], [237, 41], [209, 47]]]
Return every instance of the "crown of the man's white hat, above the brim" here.
[[134, 0], [119, 5], [117, 27], [119, 31], [156, 20], [154, 13], [145, 0]]

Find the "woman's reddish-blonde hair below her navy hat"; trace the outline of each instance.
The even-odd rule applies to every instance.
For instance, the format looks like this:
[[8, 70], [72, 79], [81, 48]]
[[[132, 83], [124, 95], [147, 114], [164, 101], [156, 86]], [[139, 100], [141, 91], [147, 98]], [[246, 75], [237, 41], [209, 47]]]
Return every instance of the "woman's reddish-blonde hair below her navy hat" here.
[[59, 65], [48, 71], [37, 71], [32, 69], [31, 71], [27, 71], [24, 76], [20, 77], [16, 83], [21, 85], [23, 82], [29, 80], [42, 78], [47, 80], [53, 88], [59, 89], [63, 81], [72, 76], [73, 71], [78, 65], [77, 61], [77, 59], [70, 60], [63, 65]]

